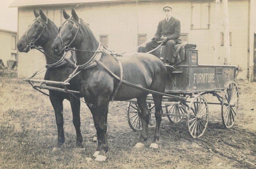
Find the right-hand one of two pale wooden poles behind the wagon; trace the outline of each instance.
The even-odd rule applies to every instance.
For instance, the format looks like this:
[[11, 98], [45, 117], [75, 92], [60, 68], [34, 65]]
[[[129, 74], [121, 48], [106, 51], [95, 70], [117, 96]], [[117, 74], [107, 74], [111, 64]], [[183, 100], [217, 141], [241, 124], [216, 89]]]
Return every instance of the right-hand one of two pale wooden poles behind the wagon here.
[[224, 64], [230, 64], [230, 41], [229, 41], [229, 20], [228, 20], [228, 0], [223, 0], [223, 12], [224, 12], [224, 50], [225, 59]]

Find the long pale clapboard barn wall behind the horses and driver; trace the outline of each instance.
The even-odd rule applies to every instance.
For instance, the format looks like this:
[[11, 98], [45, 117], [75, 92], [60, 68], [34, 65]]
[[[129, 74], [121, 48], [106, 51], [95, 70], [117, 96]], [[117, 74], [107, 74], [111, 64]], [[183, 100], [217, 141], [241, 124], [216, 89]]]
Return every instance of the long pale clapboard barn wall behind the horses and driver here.
[[[197, 1], [198, 2], [198, 1]], [[200, 1], [199, 1], [200, 2]], [[206, 1], [204, 1], [206, 2]], [[191, 2], [172, 2], [173, 16], [181, 21], [181, 33], [188, 34], [188, 41], [197, 44], [199, 50], [199, 64], [213, 64], [215, 23], [215, 2], [210, 2], [210, 29], [191, 29]], [[140, 3], [137, 7], [134, 3], [109, 3], [98, 5], [73, 6], [46, 6], [41, 7], [47, 12], [52, 21], [60, 25], [64, 21], [62, 9], [71, 15], [71, 7], [75, 8], [78, 16], [89, 23], [96, 39], [100, 35], [108, 35], [108, 48], [115, 52], [135, 52], [138, 46], [138, 35], [146, 34], [149, 40], [156, 32], [158, 22], [164, 18], [162, 6], [170, 4], [150, 2]], [[239, 8], [238, 8], [239, 6]], [[247, 50], [248, 50], [248, 24], [249, 2], [248, 0], [232, 0], [228, 3], [230, 32], [232, 33], [232, 46], [230, 46], [231, 64], [239, 65], [243, 71], [238, 78], [246, 78], [247, 75]], [[223, 11], [221, 8], [221, 16]], [[32, 8], [19, 9], [19, 37], [25, 32], [28, 24], [34, 19]], [[197, 19], [197, 18], [193, 18]], [[138, 23], [138, 26], [137, 26]], [[220, 32], [223, 32], [220, 27]], [[220, 46], [218, 64], [224, 63], [224, 47]], [[29, 53], [19, 52], [18, 77], [26, 77], [45, 64], [44, 56], [36, 51]], [[43, 74], [40, 76], [43, 77]]]

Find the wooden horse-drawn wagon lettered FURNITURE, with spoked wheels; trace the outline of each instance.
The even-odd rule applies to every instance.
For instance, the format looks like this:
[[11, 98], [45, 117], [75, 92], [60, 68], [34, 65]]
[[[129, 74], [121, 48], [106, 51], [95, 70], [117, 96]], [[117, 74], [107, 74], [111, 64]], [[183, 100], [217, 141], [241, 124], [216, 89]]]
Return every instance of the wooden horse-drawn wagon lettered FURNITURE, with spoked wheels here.
[[[208, 105], [221, 105], [224, 127], [230, 128], [235, 123], [239, 109], [237, 68], [229, 65], [199, 65], [196, 45], [187, 44], [184, 50], [184, 60], [175, 66], [174, 72], [168, 73], [165, 94], [182, 96], [186, 100], [163, 96], [162, 115], [167, 116], [173, 123], [186, 119], [188, 133], [196, 138], [206, 131], [209, 122]], [[162, 47], [155, 52], [155, 56], [160, 58], [164, 55], [161, 51], [164, 51]], [[219, 102], [207, 102], [203, 96], [205, 94], [216, 96]], [[147, 103], [151, 113], [154, 113], [152, 96], [147, 97]], [[142, 129], [143, 122], [140, 116], [137, 100], [129, 100], [127, 119], [130, 127], [135, 131]]]

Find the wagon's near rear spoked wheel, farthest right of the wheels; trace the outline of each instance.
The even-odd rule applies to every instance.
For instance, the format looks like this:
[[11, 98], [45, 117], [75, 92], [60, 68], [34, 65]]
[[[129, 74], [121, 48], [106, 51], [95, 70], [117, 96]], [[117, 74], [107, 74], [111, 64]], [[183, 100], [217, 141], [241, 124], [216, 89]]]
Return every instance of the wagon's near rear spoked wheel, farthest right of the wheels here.
[[238, 116], [238, 86], [234, 81], [230, 81], [224, 90], [222, 100], [222, 122], [225, 128], [230, 128], [234, 125]]

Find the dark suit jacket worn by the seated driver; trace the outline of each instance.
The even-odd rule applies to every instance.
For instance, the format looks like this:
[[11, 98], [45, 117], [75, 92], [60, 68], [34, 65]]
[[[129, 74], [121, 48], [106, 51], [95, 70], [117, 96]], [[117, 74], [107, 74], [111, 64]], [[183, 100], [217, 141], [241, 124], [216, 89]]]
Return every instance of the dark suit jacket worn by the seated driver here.
[[168, 37], [168, 40], [173, 39], [179, 44], [180, 40], [178, 38], [180, 36], [180, 30], [181, 25], [178, 19], [171, 17], [167, 23], [164, 18], [159, 22], [155, 36], [159, 39], [162, 35], [164, 35]]

